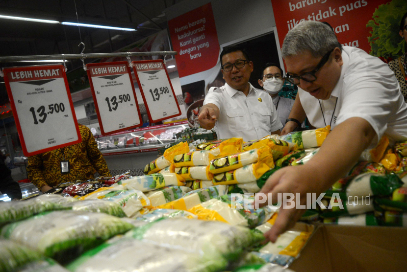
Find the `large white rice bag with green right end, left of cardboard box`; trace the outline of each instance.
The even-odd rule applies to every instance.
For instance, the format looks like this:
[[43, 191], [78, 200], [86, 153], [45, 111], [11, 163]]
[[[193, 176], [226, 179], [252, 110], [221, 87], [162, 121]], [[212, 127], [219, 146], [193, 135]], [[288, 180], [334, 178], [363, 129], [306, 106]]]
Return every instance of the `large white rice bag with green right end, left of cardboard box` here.
[[264, 240], [262, 233], [218, 221], [171, 218], [135, 228], [126, 236], [202, 255], [203, 260], [236, 260], [247, 247]]

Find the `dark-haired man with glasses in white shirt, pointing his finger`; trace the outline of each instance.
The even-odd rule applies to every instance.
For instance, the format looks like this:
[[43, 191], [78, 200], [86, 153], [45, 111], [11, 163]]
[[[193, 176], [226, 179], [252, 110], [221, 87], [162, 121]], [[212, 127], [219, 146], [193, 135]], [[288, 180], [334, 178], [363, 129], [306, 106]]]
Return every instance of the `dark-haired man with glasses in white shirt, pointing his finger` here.
[[246, 50], [225, 47], [220, 59], [226, 84], [206, 95], [198, 116], [201, 127], [214, 128], [219, 139], [280, 135], [282, 125], [270, 95], [249, 83], [253, 62]]

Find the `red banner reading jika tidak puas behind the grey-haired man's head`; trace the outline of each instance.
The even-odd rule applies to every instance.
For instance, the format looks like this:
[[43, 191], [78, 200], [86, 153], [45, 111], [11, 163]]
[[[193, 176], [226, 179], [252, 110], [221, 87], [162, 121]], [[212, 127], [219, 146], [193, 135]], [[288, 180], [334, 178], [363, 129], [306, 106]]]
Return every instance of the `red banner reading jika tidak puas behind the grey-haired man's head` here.
[[[368, 37], [373, 13], [389, 0], [271, 0], [280, 46], [287, 32], [304, 20], [327, 22], [339, 43], [371, 51]], [[392, 31], [388, 29], [388, 31]]]

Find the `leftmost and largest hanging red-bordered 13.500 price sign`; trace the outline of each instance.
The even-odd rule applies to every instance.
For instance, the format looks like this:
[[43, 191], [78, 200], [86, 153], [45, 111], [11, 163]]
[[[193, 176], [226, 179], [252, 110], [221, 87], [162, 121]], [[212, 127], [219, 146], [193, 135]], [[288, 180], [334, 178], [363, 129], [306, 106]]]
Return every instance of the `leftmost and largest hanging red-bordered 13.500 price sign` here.
[[81, 141], [62, 65], [5, 68], [3, 72], [25, 156]]

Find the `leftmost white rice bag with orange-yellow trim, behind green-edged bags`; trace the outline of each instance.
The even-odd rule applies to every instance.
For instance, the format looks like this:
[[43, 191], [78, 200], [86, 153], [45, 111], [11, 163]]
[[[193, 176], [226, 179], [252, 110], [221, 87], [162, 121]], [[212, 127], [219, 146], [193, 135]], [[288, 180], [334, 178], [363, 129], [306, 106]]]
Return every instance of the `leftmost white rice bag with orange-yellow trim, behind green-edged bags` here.
[[79, 200], [102, 199], [119, 204], [128, 217], [136, 216], [143, 207], [150, 205], [150, 200], [139, 190], [127, 190], [123, 185], [103, 187], [80, 197]]

